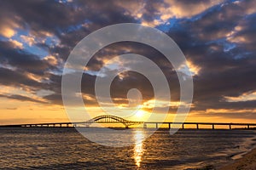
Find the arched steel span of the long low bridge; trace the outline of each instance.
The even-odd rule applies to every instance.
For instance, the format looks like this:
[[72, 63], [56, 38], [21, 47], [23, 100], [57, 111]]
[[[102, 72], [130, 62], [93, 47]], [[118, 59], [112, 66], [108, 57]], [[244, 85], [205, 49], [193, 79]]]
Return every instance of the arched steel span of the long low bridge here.
[[91, 123], [96, 123], [96, 122], [97, 123], [122, 123], [125, 125], [126, 128], [128, 128], [131, 125], [138, 125], [138, 124], [144, 123], [144, 122], [128, 121], [119, 116], [102, 115], [102, 116], [96, 116], [90, 119], [89, 121], [84, 122], [84, 124], [89, 126]]

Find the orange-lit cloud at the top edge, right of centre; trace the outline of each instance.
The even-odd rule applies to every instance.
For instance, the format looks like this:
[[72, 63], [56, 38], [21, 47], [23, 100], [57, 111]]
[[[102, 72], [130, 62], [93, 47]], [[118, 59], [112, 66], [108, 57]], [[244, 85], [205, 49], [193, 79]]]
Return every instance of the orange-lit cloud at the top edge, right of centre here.
[[[195, 14], [201, 14], [201, 12], [211, 8], [212, 6], [223, 3], [224, 0], [215, 0], [215, 1], [201, 1], [199, 3], [183, 3], [183, 1], [178, 0], [165, 0], [164, 3], [150, 3], [138, 1], [138, 2], [126, 2], [122, 1], [121, 3], [116, 3], [120, 8], [125, 8], [125, 14], [131, 15], [137, 20], [142, 20], [143, 26], [159, 26], [166, 23], [170, 18], [190, 18]], [[148, 2], [149, 3], [149, 2]], [[146, 6], [152, 6], [155, 11], [148, 11]], [[145, 20], [143, 19], [143, 14], [149, 14], [157, 17], [158, 19], [154, 20]]]

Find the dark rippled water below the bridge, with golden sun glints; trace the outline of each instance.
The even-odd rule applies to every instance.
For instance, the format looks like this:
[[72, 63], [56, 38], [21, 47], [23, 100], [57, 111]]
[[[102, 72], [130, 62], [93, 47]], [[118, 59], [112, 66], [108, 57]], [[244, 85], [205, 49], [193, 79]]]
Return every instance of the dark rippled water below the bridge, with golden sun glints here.
[[[140, 140], [150, 129], [133, 131], [134, 139]], [[180, 130], [172, 136], [159, 130], [143, 143], [121, 148], [92, 143], [66, 127], [0, 128], [0, 137], [1, 169], [218, 167], [256, 142], [256, 132], [248, 130]]]

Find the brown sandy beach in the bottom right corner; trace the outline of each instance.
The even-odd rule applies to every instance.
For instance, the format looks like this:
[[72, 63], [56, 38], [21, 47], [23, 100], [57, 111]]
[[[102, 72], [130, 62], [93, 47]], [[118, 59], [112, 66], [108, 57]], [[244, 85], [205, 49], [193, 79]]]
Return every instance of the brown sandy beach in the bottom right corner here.
[[240, 159], [219, 168], [219, 170], [255, 170], [256, 169], [256, 149], [251, 150]]

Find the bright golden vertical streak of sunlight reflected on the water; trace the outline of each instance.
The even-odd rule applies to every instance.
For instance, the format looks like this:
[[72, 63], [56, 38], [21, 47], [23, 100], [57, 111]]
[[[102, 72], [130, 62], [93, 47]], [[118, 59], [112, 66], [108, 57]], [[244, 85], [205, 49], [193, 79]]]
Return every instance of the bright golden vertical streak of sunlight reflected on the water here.
[[141, 166], [141, 161], [142, 161], [142, 156], [143, 156], [143, 140], [144, 140], [144, 131], [143, 130], [136, 130], [134, 132], [134, 140], [135, 140], [135, 145], [133, 149], [133, 157], [135, 164], [137, 167]]

